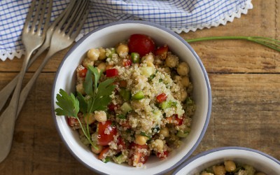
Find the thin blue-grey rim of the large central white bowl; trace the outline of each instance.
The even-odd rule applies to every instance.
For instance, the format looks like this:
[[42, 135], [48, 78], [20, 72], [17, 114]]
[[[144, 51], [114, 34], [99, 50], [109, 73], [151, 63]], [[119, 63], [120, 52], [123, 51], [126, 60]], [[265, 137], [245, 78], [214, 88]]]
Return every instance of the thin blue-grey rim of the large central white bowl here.
[[193, 148], [190, 149], [190, 151], [184, 155], [184, 157], [179, 160], [179, 162], [177, 162], [175, 165], [173, 165], [172, 167], [169, 167], [168, 169], [165, 169], [165, 171], [159, 172], [158, 174], [163, 174], [165, 172], [169, 172], [170, 170], [174, 169], [175, 167], [179, 166], [183, 161], [185, 161], [192, 153], [193, 151], [195, 151], [195, 148], [197, 148], [198, 144], [200, 144], [200, 141], [202, 140], [202, 137], [204, 137], [204, 133], [207, 130], [207, 126], [209, 124], [209, 120], [210, 120], [210, 116], [211, 116], [211, 104], [212, 104], [212, 99], [211, 99], [211, 87], [210, 87], [210, 83], [209, 83], [209, 78], [207, 76], [207, 71], [204, 69], [204, 66], [200, 60], [200, 57], [198, 57], [198, 55], [196, 54], [196, 52], [193, 50], [193, 48], [190, 47], [190, 45], [183, 39], [181, 38], [181, 36], [179, 36], [178, 34], [175, 34], [174, 31], [171, 31], [169, 29], [166, 29], [165, 27], [162, 27], [160, 25], [155, 25], [151, 22], [144, 22], [144, 21], [138, 21], [138, 20], [127, 20], [127, 21], [120, 21], [120, 22], [112, 22], [108, 25], [104, 25], [102, 27], [99, 27], [97, 29], [94, 29], [93, 31], [90, 31], [88, 34], [86, 34], [85, 36], [83, 36], [82, 38], [80, 38], [80, 40], [73, 45], [73, 47], [66, 53], [66, 55], [64, 56], [64, 58], [62, 59], [62, 62], [59, 64], [59, 67], [57, 69], [57, 73], [55, 75], [55, 80], [54, 80], [54, 84], [52, 86], [52, 99], [51, 99], [51, 105], [52, 105], [52, 117], [55, 121], [55, 127], [57, 128], [57, 131], [59, 132], [59, 136], [62, 138], [62, 141], [64, 142], [64, 144], [66, 145], [66, 147], [68, 148], [68, 150], [70, 151], [70, 153], [77, 159], [79, 160], [79, 162], [82, 162], [83, 165], [85, 165], [86, 167], [89, 167], [90, 169], [92, 169], [94, 172], [98, 172], [99, 174], [102, 174], [102, 172], [99, 172], [97, 169], [94, 169], [92, 167], [90, 167], [89, 165], [85, 164], [85, 162], [83, 162], [83, 160], [81, 160], [80, 158], [78, 158], [78, 156], [73, 153], [73, 151], [71, 150], [70, 146], [68, 144], [66, 144], [66, 139], [62, 136], [62, 133], [59, 130], [59, 125], [57, 123], [57, 116], [55, 115], [55, 89], [56, 89], [56, 82], [57, 82], [57, 77], [59, 75], [59, 72], [62, 69], [62, 66], [64, 64], [64, 62], [66, 61], [66, 58], [69, 57], [69, 55], [71, 55], [71, 53], [76, 50], [76, 48], [83, 43], [83, 41], [85, 41], [89, 36], [91, 36], [92, 34], [102, 30], [102, 29], [106, 29], [107, 27], [113, 27], [116, 25], [123, 25], [123, 24], [135, 24], [135, 25], [147, 25], [147, 26], [151, 26], [151, 27], [155, 27], [158, 29], [161, 29], [162, 31], [165, 31], [169, 34], [171, 34], [172, 36], [176, 37], [177, 39], [179, 39], [184, 45], [186, 45], [186, 47], [190, 50], [190, 52], [192, 52], [193, 56], [196, 59], [196, 62], [198, 62], [198, 64], [200, 65], [200, 69], [203, 72], [204, 75], [204, 79], [205, 79], [205, 83], [207, 85], [207, 95], [208, 95], [208, 109], [207, 109], [207, 115], [206, 115], [206, 120], [202, 129], [202, 132], [200, 133], [200, 137], [197, 139], [197, 141], [195, 142], [195, 144], [193, 145]]

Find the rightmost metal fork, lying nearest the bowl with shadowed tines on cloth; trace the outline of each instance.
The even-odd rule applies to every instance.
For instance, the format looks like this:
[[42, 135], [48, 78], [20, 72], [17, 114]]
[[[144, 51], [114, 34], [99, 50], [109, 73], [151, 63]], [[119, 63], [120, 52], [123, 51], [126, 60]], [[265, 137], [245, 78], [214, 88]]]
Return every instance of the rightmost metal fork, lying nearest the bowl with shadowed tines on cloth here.
[[[54, 31], [50, 41], [50, 50], [48, 51], [47, 55], [45, 56], [45, 59], [43, 59], [43, 62], [38, 67], [38, 69], [36, 70], [32, 78], [29, 80], [25, 88], [22, 90], [20, 94], [20, 101], [18, 104], [17, 115], [22, 109], [22, 106], [25, 102], [25, 99], [27, 98], [29, 91], [31, 90], [32, 85], [38, 78], [39, 73], [41, 73], [41, 70], [48, 62], [50, 57], [52, 57], [52, 55], [54, 55], [59, 50], [63, 50], [64, 48], [69, 47], [71, 43], [73, 43], [76, 36], [78, 36], [78, 34], [80, 33], [80, 29], [82, 29], [87, 14], [89, 13], [89, 9], [87, 8], [88, 3], [89, 1], [87, 0], [84, 1], [76, 0], [71, 10], [70, 9], [66, 10], [66, 13], [63, 16], [62, 20], [60, 20], [57, 25], [51, 26], [54, 27], [53, 28]], [[3, 118], [3, 116], [1, 116], [1, 118]], [[15, 119], [16, 118], [13, 118], [13, 123], [15, 123]], [[6, 128], [6, 130], [2, 130], [0, 128], [0, 133], [7, 132], [7, 130], [9, 130], [8, 132], [11, 134], [10, 135], [5, 134], [6, 137], [0, 136], [0, 148], [11, 146], [11, 144], [6, 144], [6, 143], [7, 141], [12, 142], [13, 140], [13, 131], [10, 131], [13, 130], [13, 128]], [[10, 149], [6, 150], [7, 152], [6, 155], [8, 155], [9, 150]], [[6, 156], [2, 158], [4, 152], [5, 151], [0, 149], [0, 162], [4, 158], [6, 158]]]

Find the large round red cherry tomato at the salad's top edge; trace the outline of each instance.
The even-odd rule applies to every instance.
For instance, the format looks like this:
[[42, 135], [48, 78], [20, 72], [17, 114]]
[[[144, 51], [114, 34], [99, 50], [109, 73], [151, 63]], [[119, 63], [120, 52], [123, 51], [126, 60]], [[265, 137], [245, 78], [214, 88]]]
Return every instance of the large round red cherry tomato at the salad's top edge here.
[[155, 42], [144, 34], [132, 34], [127, 45], [130, 52], [137, 52], [141, 57], [155, 51]]

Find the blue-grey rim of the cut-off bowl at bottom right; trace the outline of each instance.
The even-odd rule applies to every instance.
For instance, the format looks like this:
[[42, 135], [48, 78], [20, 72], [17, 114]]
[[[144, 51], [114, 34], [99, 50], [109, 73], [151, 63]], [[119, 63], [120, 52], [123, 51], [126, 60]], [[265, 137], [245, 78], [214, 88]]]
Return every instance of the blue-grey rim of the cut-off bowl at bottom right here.
[[[204, 156], [209, 155], [211, 153], [216, 153], [216, 152], [220, 152], [220, 151], [229, 151], [229, 150], [248, 151], [248, 152], [251, 152], [251, 153], [257, 153], [258, 155], [262, 155], [263, 158], [267, 158], [268, 160], [272, 160], [273, 162], [278, 164], [279, 165], [278, 171], [280, 171], [280, 161], [276, 160], [276, 158], [273, 158], [271, 155], [267, 155], [266, 153], [262, 153], [261, 151], [258, 151], [258, 150], [252, 149], [252, 148], [245, 148], [245, 147], [240, 147], [240, 146], [226, 146], [226, 147], [221, 147], [221, 148], [214, 148], [214, 149], [204, 151], [202, 153], [199, 153], [199, 154], [195, 155], [193, 158], [190, 158], [189, 160], [184, 162], [182, 165], [177, 167], [176, 170], [172, 173], [172, 175], [176, 175], [178, 173], [186, 174], [184, 168], [188, 167], [188, 165], [190, 165], [193, 161], [195, 161], [199, 158], [203, 158]], [[188, 169], [188, 171], [189, 170], [190, 169]]]

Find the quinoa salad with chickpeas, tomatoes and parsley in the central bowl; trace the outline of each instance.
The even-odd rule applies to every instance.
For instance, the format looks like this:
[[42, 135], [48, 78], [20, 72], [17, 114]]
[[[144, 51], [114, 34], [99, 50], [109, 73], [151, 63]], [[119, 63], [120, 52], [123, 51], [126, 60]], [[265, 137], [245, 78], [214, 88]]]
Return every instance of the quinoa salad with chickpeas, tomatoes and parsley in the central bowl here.
[[114, 48], [87, 51], [76, 68], [76, 92], [61, 90], [56, 112], [103, 162], [142, 167], [153, 155], [164, 160], [190, 132], [190, 69], [168, 43], [132, 34]]

